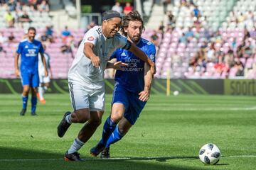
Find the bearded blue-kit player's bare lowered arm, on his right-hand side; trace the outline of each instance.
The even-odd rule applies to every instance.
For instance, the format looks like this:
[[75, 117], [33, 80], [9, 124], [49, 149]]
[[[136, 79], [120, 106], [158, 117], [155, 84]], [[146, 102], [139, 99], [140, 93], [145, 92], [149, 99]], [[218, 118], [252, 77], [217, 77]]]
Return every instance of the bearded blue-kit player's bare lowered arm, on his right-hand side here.
[[153, 74], [148, 64], [144, 65], [144, 90], [139, 93], [139, 100], [147, 101], [150, 95], [150, 86], [153, 78]]

